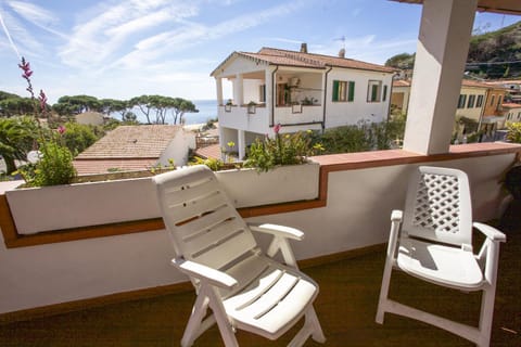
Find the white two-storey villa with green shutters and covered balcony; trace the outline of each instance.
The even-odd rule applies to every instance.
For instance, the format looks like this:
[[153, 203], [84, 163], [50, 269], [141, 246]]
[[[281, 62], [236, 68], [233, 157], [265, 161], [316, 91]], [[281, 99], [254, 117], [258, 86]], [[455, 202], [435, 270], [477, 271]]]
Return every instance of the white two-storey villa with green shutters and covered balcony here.
[[[387, 117], [392, 68], [339, 56], [263, 48], [257, 53], [233, 52], [211, 76], [217, 83], [221, 146], [230, 141], [239, 158], [256, 137], [323, 130], [360, 120]], [[226, 101], [223, 82], [232, 83]]]

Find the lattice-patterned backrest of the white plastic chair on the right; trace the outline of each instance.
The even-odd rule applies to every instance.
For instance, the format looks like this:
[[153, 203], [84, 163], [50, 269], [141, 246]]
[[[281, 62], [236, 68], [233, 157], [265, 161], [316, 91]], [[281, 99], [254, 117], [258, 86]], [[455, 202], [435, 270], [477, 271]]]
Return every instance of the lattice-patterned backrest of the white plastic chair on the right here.
[[472, 207], [467, 175], [420, 166], [407, 190], [403, 230], [410, 236], [452, 245], [472, 244]]

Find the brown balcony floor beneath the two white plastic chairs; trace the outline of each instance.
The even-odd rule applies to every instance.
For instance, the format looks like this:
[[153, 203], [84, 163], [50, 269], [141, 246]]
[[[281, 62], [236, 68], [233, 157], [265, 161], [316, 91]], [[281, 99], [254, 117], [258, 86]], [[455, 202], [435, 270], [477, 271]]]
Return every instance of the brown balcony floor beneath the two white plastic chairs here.
[[[519, 213], [519, 211], [518, 211]], [[521, 214], [520, 214], [521, 215]], [[521, 226], [504, 229], [491, 346], [521, 346]], [[307, 268], [320, 284], [316, 309], [325, 346], [473, 346], [436, 327], [386, 314], [374, 323], [384, 255]], [[480, 294], [445, 290], [394, 272], [391, 296], [462, 322], [476, 322]], [[0, 325], [0, 346], [179, 346], [193, 293], [110, 305]], [[270, 342], [239, 332], [241, 346], [285, 346], [293, 335]], [[216, 327], [194, 346], [223, 346]], [[307, 342], [306, 346], [322, 346]]]

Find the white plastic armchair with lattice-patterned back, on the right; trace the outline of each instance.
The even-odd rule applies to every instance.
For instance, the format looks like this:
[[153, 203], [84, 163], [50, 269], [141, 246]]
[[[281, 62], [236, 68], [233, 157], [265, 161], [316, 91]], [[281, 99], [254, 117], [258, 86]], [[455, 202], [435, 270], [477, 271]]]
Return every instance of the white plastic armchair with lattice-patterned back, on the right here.
[[[472, 227], [485, 235], [478, 254], [472, 250]], [[472, 223], [467, 175], [457, 169], [420, 166], [409, 181], [405, 211], [393, 210], [386, 261], [376, 321], [391, 312], [423, 321], [488, 346], [494, 313], [499, 243], [506, 236]], [[478, 326], [461, 324], [387, 297], [392, 270], [460, 290], [483, 291]], [[450, 303], [447, 303], [449, 305]]]

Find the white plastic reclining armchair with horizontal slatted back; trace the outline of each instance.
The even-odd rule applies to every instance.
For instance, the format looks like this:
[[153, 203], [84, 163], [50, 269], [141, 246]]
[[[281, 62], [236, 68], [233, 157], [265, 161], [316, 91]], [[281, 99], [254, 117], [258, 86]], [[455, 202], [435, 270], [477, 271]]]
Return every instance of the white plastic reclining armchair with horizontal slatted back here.
[[[153, 181], [175, 249], [173, 264], [198, 294], [181, 346], [192, 346], [214, 323], [227, 347], [238, 346], [237, 329], [277, 339], [302, 318], [304, 325], [290, 346], [302, 346], [308, 337], [326, 340], [313, 307], [318, 285], [297, 269], [289, 243], [302, 240], [302, 231], [247, 226], [206, 166], [162, 174]], [[274, 235], [267, 254], [252, 230]], [[272, 259], [279, 250], [285, 265]]]

